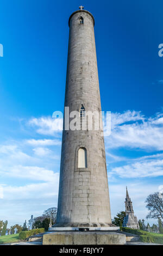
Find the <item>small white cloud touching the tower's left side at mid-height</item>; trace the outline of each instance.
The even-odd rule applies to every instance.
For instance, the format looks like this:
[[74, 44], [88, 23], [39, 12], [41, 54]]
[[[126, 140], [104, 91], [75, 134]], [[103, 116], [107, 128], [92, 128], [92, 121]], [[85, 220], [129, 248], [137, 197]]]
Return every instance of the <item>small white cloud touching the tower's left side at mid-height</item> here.
[[57, 132], [62, 131], [63, 119], [51, 117], [32, 118], [28, 121], [28, 124], [37, 127], [37, 133], [54, 136]]

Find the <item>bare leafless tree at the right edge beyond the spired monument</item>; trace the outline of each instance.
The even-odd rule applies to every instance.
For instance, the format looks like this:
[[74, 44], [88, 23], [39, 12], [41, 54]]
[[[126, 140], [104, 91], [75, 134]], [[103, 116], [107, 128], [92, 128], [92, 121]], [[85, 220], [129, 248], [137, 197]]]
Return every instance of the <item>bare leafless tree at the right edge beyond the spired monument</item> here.
[[148, 218], [162, 218], [163, 219], [163, 200], [160, 197], [159, 192], [149, 194], [145, 200], [147, 203], [146, 208], [149, 210]]

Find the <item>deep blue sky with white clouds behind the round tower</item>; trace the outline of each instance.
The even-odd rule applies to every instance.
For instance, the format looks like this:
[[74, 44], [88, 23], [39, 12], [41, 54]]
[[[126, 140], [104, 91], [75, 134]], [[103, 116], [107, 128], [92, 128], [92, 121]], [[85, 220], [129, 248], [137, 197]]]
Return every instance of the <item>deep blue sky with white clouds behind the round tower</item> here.
[[[137, 218], [163, 185], [162, 1], [0, 1], [0, 220], [9, 225], [57, 206], [68, 18], [83, 5], [95, 17], [112, 218], [126, 185]], [[149, 223], [156, 222], [149, 220]]]

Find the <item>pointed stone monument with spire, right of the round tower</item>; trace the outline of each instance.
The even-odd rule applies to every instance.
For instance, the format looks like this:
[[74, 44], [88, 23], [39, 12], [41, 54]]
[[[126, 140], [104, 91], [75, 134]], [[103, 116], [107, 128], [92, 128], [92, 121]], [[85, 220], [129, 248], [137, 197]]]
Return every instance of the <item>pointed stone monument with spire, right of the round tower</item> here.
[[139, 229], [139, 223], [137, 221], [137, 217], [134, 215], [133, 203], [131, 202], [131, 199], [129, 197], [127, 187], [126, 200], [124, 203], [126, 207], [126, 217], [124, 217], [123, 220], [123, 227]]

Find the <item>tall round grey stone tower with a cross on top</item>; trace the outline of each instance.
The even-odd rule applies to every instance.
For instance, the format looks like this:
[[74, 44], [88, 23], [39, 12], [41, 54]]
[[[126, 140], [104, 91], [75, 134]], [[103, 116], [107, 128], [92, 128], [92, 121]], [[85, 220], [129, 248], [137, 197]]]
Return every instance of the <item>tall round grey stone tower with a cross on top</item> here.
[[[70, 119], [83, 120], [67, 129], [64, 113], [57, 224], [53, 227], [110, 227], [111, 214], [103, 129], [88, 129], [87, 112], [100, 113], [94, 25], [89, 11], [75, 11], [68, 21], [65, 107]], [[72, 113], [71, 113], [72, 112]], [[99, 115], [100, 116], [100, 115]], [[82, 119], [83, 118], [83, 119]], [[86, 121], [84, 121], [86, 120]], [[102, 122], [102, 118], [99, 118]]]

